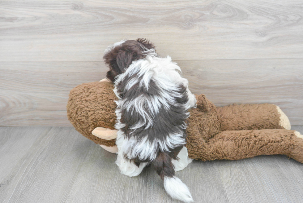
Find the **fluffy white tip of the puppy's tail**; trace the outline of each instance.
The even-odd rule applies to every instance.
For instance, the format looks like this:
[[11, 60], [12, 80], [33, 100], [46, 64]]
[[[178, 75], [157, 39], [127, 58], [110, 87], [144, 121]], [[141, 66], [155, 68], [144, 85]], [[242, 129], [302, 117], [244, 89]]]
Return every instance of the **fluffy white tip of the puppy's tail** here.
[[164, 177], [164, 188], [174, 199], [184, 202], [193, 202], [193, 198], [186, 184], [182, 183], [176, 176]]

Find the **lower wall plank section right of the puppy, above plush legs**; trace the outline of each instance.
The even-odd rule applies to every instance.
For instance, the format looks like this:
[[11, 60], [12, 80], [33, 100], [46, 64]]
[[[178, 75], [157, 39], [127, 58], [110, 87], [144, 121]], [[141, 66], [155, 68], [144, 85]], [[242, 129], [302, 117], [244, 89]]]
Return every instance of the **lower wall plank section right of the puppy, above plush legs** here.
[[179, 61], [189, 87], [217, 106], [278, 105], [303, 125], [303, 59]]

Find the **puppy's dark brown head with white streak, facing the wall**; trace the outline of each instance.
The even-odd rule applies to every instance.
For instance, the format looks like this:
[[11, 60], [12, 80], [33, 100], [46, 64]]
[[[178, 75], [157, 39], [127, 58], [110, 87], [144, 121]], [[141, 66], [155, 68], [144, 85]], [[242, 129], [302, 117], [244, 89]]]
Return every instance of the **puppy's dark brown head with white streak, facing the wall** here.
[[154, 49], [155, 46], [143, 38], [135, 40], [122, 40], [108, 47], [103, 59], [109, 66], [106, 77], [115, 82], [115, 77], [123, 72], [134, 61], [146, 57], [147, 50]]

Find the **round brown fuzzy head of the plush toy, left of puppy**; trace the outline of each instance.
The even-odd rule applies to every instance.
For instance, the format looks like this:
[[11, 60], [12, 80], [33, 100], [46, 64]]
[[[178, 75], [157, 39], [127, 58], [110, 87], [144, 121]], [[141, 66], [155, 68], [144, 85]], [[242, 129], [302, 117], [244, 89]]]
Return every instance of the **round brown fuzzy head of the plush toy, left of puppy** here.
[[70, 91], [67, 117], [76, 130], [97, 144], [113, 147], [116, 139], [100, 139], [92, 135], [96, 127], [114, 130], [117, 105], [113, 83], [90, 82]]

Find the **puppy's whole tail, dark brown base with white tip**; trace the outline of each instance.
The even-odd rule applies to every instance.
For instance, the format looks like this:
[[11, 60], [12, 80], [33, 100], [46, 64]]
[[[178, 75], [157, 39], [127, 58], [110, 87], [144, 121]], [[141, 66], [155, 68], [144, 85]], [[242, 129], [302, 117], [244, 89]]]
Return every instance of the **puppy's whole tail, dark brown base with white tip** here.
[[175, 176], [175, 169], [169, 152], [159, 152], [156, 159], [152, 161], [152, 166], [160, 175], [164, 188], [171, 197], [184, 202], [194, 201], [186, 184]]

